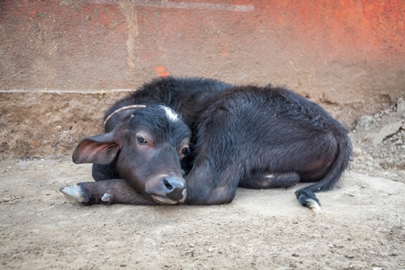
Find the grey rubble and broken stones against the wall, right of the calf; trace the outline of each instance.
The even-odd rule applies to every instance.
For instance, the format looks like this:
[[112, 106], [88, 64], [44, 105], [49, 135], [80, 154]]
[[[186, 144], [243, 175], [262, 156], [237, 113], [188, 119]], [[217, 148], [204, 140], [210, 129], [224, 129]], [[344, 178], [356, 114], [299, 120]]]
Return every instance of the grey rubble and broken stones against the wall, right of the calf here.
[[383, 112], [360, 117], [350, 138], [353, 170], [405, 183], [404, 97]]

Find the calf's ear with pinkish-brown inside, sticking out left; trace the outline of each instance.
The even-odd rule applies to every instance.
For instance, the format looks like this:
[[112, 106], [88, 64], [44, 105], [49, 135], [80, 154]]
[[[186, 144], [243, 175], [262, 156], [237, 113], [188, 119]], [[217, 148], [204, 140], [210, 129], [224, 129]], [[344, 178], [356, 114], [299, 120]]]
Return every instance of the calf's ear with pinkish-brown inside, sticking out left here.
[[73, 152], [73, 162], [109, 164], [117, 156], [120, 145], [115, 142], [113, 133], [105, 133], [82, 139]]

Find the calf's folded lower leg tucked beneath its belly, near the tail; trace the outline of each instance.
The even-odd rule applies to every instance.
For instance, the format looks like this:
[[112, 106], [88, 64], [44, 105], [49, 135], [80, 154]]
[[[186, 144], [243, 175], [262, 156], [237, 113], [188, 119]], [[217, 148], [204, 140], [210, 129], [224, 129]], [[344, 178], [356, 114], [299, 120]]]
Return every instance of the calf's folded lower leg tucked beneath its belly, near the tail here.
[[242, 180], [240, 187], [252, 189], [268, 189], [277, 187], [289, 187], [300, 181], [300, 175], [297, 173], [272, 174], [259, 173], [249, 179]]

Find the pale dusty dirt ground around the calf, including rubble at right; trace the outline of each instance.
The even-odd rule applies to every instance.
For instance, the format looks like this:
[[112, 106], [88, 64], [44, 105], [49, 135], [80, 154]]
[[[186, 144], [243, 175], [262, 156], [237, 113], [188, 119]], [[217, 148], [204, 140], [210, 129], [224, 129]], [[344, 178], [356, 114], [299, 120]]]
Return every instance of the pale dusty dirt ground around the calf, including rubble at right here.
[[92, 181], [89, 165], [0, 163], [0, 269], [405, 269], [405, 111], [358, 121], [352, 169], [319, 193], [238, 189], [218, 206], [79, 207], [58, 188]]

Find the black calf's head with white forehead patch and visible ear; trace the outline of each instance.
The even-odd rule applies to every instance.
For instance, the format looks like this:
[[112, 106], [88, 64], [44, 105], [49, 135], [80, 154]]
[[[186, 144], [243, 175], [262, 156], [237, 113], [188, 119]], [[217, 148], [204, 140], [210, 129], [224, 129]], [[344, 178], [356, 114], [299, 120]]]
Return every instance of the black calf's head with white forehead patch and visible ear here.
[[189, 155], [190, 136], [190, 129], [176, 112], [163, 105], [149, 105], [129, 113], [112, 131], [82, 139], [73, 161], [113, 161], [120, 178], [139, 193], [160, 204], [184, 202], [181, 160]]

